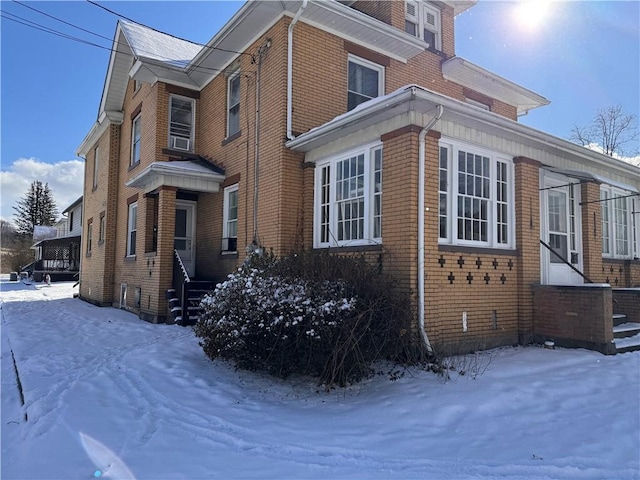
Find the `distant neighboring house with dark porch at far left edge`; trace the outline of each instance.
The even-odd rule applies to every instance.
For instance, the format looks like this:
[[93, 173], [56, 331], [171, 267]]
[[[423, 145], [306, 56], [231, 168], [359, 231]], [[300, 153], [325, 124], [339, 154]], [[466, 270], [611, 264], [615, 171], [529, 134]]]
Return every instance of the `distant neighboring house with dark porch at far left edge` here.
[[80, 239], [82, 235], [82, 197], [69, 205], [63, 218], [51, 227], [33, 228], [35, 262], [27, 269], [35, 281], [46, 275], [56, 280], [74, 280], [80, 271]]

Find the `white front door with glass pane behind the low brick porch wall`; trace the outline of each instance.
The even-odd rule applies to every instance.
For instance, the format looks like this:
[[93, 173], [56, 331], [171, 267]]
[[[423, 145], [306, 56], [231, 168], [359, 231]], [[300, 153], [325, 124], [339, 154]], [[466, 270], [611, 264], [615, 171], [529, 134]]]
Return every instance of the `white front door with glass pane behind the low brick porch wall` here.
[[540, 245], [542, 283], [578, 285], [582, 276], [580, 185], [576, 180], [543, 174], [540, 195], [541, 238], [551, 250]]

